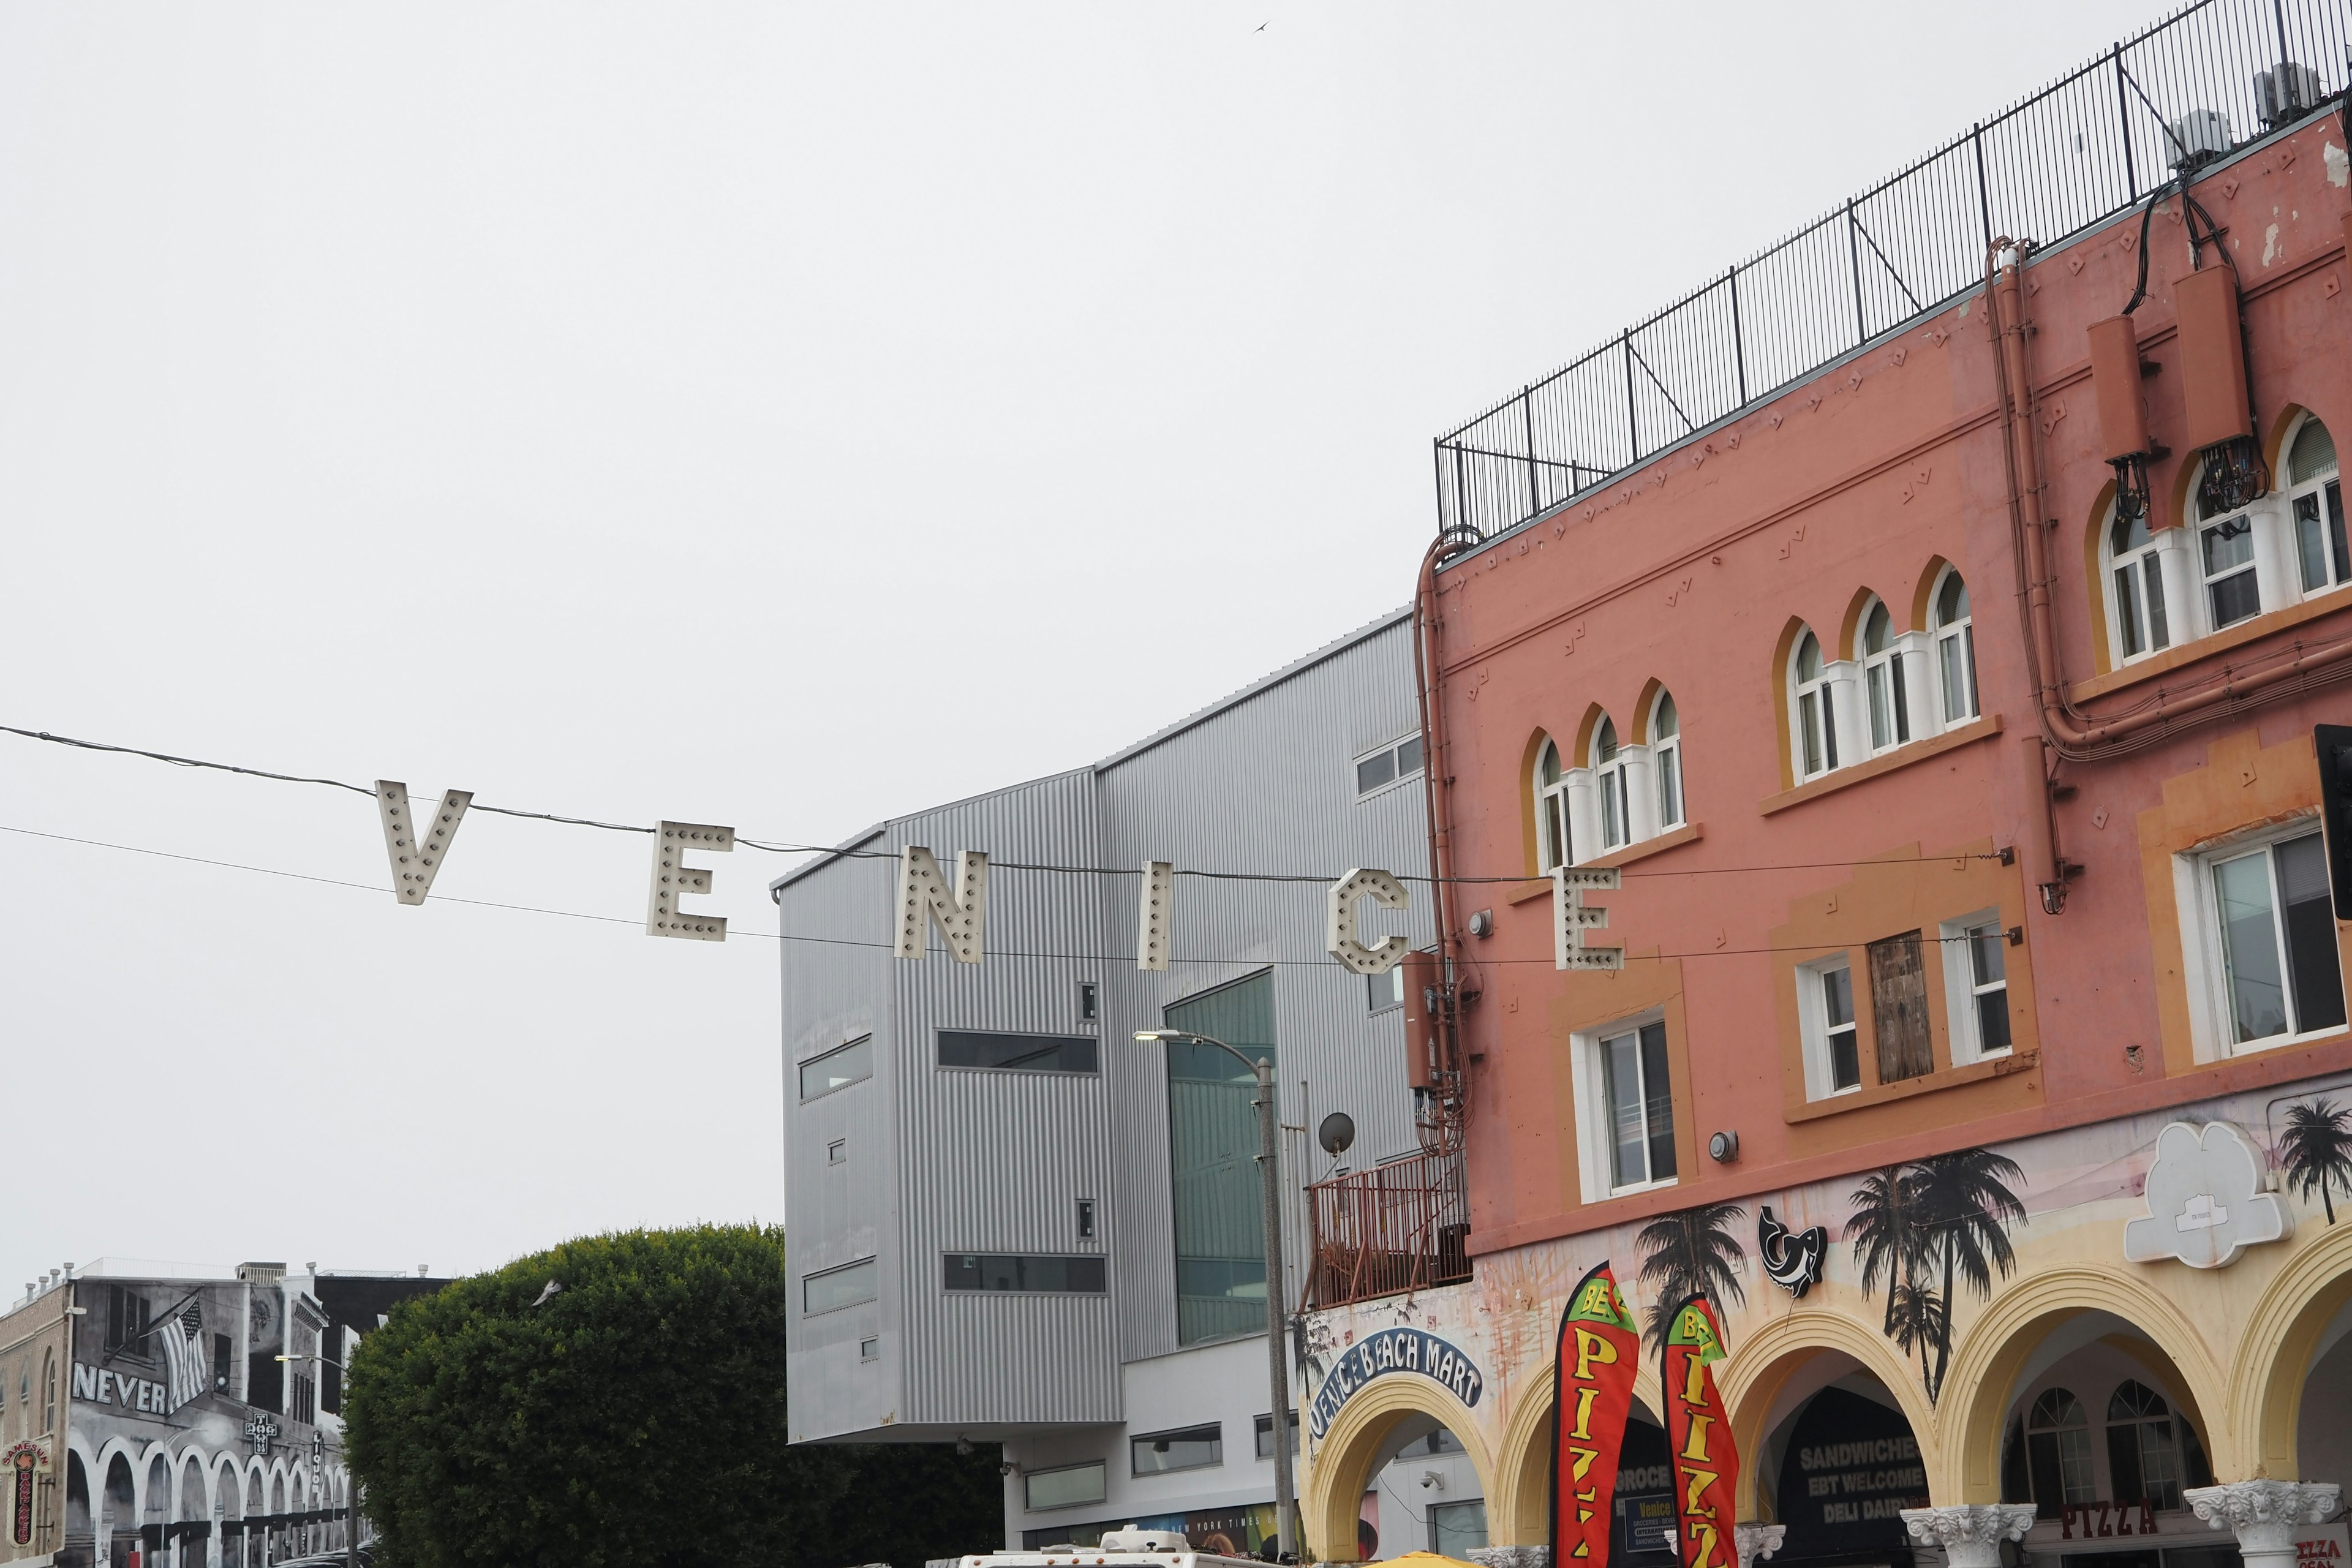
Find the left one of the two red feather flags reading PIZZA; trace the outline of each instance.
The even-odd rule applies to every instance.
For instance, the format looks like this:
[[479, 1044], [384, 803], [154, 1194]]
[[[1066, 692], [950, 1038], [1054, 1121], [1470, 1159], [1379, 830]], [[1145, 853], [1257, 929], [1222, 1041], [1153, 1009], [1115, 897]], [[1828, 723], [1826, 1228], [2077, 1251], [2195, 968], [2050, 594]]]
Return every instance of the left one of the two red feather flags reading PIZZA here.
[[1552, 1561], [1609, 1563], [1618, 1450], [1632, 1413], [1642, 1331], [1602, 1262], [1559, 1314], [1559, 1401], [1552, 1408]]

